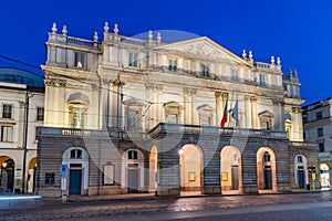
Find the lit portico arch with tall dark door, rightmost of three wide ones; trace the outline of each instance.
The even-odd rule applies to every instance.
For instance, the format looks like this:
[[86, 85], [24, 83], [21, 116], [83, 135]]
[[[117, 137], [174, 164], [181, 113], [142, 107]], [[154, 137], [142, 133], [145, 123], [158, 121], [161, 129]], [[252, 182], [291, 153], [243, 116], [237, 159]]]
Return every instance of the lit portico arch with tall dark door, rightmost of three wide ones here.
[[277, 191], [276, 155], [269, 147], [257, 151], [257, 186], [259, 190]]

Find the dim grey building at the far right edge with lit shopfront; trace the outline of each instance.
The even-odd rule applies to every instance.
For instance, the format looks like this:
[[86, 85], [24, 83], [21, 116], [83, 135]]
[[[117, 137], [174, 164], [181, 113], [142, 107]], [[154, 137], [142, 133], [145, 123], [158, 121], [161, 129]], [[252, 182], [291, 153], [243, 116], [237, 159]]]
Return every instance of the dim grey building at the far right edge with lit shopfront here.
[[305, 140], [319, 146], [320, 185], [322, 188], [330, 187], [332, 166], [332, 143], [331, 143], [331, 97], [303, 106], [303, 128]]

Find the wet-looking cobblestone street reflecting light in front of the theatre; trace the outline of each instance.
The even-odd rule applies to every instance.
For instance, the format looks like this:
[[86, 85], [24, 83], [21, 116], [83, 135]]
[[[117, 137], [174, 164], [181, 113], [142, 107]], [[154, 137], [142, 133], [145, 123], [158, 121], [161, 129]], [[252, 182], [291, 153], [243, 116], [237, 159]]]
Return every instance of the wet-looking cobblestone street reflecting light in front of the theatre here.
[[2, 210], [0, 220], [260, 220], [257, 219], [258, 214], [269, 221], [305, 220], [311, 214], [332, 220], [331, 209], [330, 191], [195, 198], [137, 197], [65, 204], [49, 201], [37, 208]]

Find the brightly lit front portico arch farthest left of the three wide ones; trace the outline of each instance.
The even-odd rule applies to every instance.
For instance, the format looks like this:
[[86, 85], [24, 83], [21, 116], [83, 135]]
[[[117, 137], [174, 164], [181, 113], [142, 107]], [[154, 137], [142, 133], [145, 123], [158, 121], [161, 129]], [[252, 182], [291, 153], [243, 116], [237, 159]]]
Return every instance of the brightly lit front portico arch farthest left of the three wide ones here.
[[179, 150], [180, 190], [198, 191], [203, 189], [203, 151], [196, 145], [185, 145]]

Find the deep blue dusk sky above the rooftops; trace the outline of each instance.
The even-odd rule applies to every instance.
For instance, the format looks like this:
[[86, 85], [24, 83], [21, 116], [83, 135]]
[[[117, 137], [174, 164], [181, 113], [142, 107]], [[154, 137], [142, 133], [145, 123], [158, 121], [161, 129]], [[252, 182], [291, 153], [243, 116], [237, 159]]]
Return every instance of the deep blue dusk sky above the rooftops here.
[[[169, 1], [1, 1], [0, 55], [40, 66], [45, 63], [48, 32], [66, 24], [69, 35], [103, 36], [117, 23], [120, 34], [136, 35], [148, 30], [178, 30], [206, 35], [241, 56], [270, 62], [280, 56], [282, 71], [297, 69], [305, 104], [332, 96], [332, 1], [330, 0], [169, 0]], [[41, 73], [0, 57], [0, 66]]]

